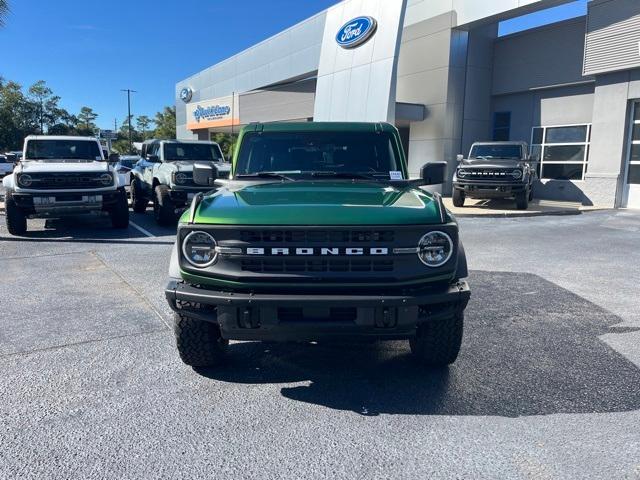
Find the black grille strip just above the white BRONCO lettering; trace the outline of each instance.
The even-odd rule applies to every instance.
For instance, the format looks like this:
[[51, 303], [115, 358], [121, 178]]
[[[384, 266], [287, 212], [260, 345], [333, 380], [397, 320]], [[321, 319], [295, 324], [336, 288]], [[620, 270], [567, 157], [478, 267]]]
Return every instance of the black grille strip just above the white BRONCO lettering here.
[[393, 230], [241, 230], [240, 240], [247, 243], [388, 243]]

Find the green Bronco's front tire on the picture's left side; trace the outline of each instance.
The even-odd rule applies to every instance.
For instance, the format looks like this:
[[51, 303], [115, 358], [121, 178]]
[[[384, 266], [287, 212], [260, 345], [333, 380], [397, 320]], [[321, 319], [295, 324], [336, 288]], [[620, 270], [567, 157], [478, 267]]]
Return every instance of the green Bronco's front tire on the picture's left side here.
[[222, 338], [217, 325], [174, 314], [178, 353], [192, 367], [212, 367], [222, 363], [229, 341]]

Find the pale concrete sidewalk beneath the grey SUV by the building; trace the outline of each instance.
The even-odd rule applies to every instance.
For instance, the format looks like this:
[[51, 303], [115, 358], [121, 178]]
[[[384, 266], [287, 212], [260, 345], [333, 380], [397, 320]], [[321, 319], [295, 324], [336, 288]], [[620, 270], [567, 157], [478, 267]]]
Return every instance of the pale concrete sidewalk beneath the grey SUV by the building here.
[[444, 204], [457, 217], [538, 217], [544, 215], [580, 215], [582, 212], [607, 210], [586, 207], [580, 203], [554, 200], [534, 200], [527, 210], [518, 210], [512, 200], [476, 200], [467, 198], [464, 207], [454, 207], [451, 198]]

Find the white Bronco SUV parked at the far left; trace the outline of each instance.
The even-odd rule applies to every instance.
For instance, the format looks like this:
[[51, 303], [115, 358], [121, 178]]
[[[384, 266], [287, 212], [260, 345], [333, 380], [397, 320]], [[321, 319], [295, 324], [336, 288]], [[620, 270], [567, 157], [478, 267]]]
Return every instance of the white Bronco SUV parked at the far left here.
[[4, 177], [7, 229], [27, 231], [27, 218], [108, 213], [114, 228], [129, 226], [124, 185], [93, 137], [30, 135], [11, 175]]

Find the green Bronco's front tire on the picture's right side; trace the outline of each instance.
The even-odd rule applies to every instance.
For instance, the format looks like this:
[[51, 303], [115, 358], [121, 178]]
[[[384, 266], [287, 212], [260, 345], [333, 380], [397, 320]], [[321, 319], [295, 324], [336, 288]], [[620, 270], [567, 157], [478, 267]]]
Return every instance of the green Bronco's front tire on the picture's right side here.
[[460, 352], [463, 324], [464, 314], [460, 312], [445, 320], [420, 325], [416, 336], [409, 341], [411, 352], [427, 366], [451, 365]]

